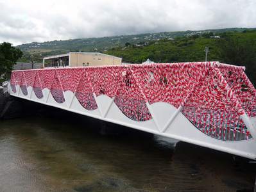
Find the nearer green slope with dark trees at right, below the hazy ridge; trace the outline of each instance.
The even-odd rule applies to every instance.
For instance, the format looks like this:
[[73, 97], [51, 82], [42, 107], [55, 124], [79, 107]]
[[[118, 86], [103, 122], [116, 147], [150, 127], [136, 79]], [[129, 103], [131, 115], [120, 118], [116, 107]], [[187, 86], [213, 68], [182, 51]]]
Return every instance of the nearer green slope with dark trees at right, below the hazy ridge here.
[[[244, 65], [246, 74], [256, 83], [256, 31], [191, 35], [175, 40], [159, 40], [147, 45], [114, 47], [107, 54], [119, 56], [124, 62], [142, 63], [149, 58], [156, 63], [205, 61], [205, 47], [209, 47], [208, 61]], [[211, 38], [212, 37], [212, 38]]]

